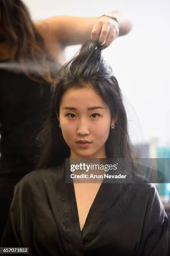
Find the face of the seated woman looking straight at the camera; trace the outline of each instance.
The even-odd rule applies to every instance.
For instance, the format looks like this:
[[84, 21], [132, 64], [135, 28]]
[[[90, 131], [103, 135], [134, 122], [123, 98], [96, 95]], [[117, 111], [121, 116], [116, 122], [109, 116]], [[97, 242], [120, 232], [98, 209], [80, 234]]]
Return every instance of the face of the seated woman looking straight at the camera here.
[[105, 142], [115, 122], [92, 87], [71, 88], [65, 92], [59, 121], [64, 140], [70, 147], [70, 158], [106, 158]]

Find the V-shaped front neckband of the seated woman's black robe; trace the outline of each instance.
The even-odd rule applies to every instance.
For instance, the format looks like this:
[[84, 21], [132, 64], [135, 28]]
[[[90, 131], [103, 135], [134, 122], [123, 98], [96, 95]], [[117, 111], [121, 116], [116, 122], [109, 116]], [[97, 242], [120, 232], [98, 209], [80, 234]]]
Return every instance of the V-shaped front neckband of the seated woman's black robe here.
[[[77, 202], [72, 179], [66, 183], [65, 163], [58, 172], [60, 187], [60, 221], [63, 228], [63, 236], [67, 243], [67, 253], [69, 255], [83, 256], [84, 246], [95, 239], [95, 231], [98, 228], [102, 216], [112, 197], [112, 184], [105, 183], [104, 180], [90, 207], [85, 224], [80, 230], [80, 222], [77, 210]], [[67, 181], [68, 182], [68, 181]], [[76, 248], [76, 251], [75, 251]]]

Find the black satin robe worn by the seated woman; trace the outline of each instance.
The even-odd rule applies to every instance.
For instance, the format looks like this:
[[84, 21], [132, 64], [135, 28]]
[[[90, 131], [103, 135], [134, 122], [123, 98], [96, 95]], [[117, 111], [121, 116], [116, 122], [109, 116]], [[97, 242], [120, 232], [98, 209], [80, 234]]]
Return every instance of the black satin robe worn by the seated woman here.
[[81, 232], [64, 165], [31, 172], [15, 186], [1, 246], [29, 247], [34, 256], [170, 255], [168, 218], [155, 186], [118, 187], [101, 184]]

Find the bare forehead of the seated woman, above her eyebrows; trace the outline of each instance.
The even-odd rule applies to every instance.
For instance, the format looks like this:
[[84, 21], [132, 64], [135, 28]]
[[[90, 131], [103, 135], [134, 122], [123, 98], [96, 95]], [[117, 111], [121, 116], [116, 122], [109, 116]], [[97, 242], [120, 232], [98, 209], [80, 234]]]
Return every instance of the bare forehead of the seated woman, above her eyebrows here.
[[92, 88], [70, 88], [62, 96], [61, 105], [89, 106], [100, 105], [106, 107], [102, 97]]

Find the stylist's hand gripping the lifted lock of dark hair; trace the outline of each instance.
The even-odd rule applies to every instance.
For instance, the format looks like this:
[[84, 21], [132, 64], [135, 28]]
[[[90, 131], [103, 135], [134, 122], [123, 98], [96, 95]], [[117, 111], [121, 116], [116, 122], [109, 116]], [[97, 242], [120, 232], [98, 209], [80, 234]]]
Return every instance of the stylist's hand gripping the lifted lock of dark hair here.
[[119, 24], [116, 20], [106, 16], [100, 17], [91, 32], [92, 42], [102, 44], [103, 48], [109, 46], [119, 35]]

